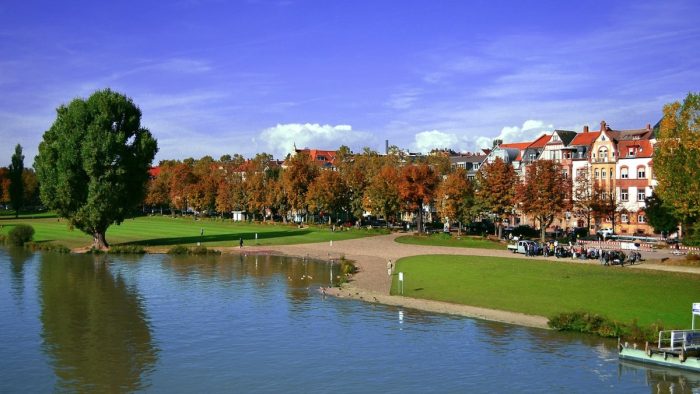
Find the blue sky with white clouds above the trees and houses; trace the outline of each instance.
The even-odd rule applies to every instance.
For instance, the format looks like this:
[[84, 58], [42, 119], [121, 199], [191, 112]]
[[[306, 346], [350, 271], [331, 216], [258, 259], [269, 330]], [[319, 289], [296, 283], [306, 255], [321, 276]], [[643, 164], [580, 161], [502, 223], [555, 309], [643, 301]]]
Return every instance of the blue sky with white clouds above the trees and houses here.
[[0, 165], [111, 88], [156, 160], [297, 147], [476, 150], [654, 124], [700, 91], [700, 2], [0, 3]]

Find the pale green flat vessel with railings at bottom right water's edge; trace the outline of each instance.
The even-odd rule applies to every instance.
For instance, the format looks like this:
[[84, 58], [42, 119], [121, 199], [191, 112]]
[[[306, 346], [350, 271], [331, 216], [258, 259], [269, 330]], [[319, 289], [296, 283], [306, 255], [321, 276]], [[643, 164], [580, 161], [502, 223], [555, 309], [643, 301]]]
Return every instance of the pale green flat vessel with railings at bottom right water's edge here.
[[700, 303], [693, 303], [692, 329], [659, 331], [658, 341], [646, 342], [643, 348], [618, 338], [619, 358], [700, 373], [700, 330], [695, 329], [695, 316], [700, 316]]

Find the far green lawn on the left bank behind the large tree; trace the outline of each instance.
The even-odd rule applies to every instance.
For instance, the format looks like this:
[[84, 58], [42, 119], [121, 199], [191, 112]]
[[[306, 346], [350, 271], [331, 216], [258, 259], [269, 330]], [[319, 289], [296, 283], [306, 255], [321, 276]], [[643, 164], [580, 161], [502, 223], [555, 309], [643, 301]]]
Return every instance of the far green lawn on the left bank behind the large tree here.
[[[47, 217], [49, 216], [49, 217]], [[34, 227], [34, 240], [54, 242], [70, 248], [90, 246], [92, 237], [78, 230], [70, 230], [65, 219], [55, 216], [32, 215], [0, 217], [0, 234], [7, 234], [13, 225], [24, 223]], [[204, 229], [204, 236], [200, 236]], [[255, 241], [255, 234], [258, 240]], [[331, 232], [327, 227], [311, 226], [299, 229], [295, 225], [232, 223], [230, 220], [193, 220], [169, 216], [149, 216], [127, 219], [121, 225], [110, 226], [107, 242], [110, 245], [136, 244], [144, 246], [196, 245], [238, 246], [243, 237], [245, 245], [282, 245], [310, 242], [328, 242], [361, 238], [382, 233], [381, 230], [356, 230]]]

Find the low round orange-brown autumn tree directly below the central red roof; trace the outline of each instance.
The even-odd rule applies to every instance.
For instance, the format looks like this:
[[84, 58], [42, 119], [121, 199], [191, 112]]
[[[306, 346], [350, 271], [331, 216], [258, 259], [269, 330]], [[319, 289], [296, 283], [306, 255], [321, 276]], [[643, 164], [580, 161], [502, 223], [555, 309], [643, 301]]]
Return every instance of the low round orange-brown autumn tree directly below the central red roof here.
[[328, 214], [328, 224], [331, 224], [333, 214], [338, 213], [348, 205], [347, 186], [336, 171], [321, 171], [309, 185], [306, 195], [307, 205], [312, 212]]

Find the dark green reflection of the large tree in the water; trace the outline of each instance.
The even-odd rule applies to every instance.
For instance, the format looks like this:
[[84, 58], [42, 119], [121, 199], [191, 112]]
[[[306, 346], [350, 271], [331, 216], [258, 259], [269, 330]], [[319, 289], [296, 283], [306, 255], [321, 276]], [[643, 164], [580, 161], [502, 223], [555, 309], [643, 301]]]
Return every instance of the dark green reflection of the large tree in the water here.
[[51, 256], [41, 264], [44, 350], [61, 390], [143, 389], [157, 361], [138, 294], [104, 259]]

